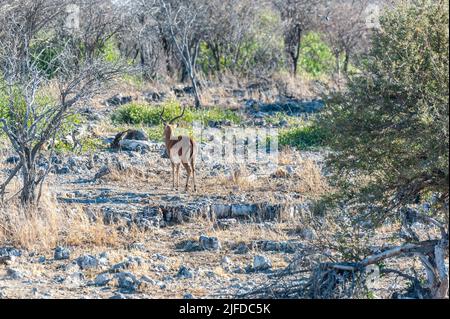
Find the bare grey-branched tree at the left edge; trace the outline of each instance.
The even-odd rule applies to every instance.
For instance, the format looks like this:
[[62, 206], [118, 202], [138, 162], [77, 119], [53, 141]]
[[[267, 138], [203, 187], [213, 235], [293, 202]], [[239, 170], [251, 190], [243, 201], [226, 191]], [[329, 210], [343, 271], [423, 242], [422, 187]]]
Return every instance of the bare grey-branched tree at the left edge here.
[[[20, 157], [0, 185], [0, 196], [3, 198], [8, 184], [20, 173], [24, 205], [39, 200], [40, 186], [50, 170], [50, 161], [47, 169], [37, 168], [44, 145], [51, 155], [67, 116], [121, 71], [120, 66], [94, 56], [80, 61], [67, 42], [49, 58], [54, 41], [48, 41], [46, 35], [65, 14], [65, 5], [54, 0], [9, 0], [0, 10], [0, 93], [4, 101], [0, 129]], [[52, 68], [51, 76], [48, 68]]]

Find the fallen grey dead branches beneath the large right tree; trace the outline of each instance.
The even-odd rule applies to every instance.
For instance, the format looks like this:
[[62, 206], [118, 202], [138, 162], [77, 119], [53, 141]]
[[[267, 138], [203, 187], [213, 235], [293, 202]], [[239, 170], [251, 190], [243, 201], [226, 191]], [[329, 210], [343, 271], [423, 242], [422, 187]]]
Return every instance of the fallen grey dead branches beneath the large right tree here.
[[[444, 249], [448, 255], [448, 240], [428, 240], [418, 243], [407, 243], [402, 246], [387, 249], [379, 254], [369, 256], [360, 262], [319, 263], [315, 267], [300, 272], [284, 270], [272, 283], [257, 290], [241, 295], [245, 298], [308, 298], [308, 299], [336, 299], [336, 298], [365, 298], [368, 293], [366, 285], [367, 267], [402, 255], [433, 256], [436, 262], [428, 262], [430, 269], [439, 274], [438, 286], [429, 290], [421, 285], [418, 278], [394, 269], [382, 269], [380, 273], [396, 274], [411, 281], [415, 298], [436, 298], [445, 295], [448, 290], [448, 271], [443, 263]], [[428, 258], [427, 258], [428, 259]], [[444, 266], [444, 267], [443, 267]], [[310, 272], [309, 277], [298, 278], [298, 274]], [[440, 295], [436, 295], [436, 293]]]

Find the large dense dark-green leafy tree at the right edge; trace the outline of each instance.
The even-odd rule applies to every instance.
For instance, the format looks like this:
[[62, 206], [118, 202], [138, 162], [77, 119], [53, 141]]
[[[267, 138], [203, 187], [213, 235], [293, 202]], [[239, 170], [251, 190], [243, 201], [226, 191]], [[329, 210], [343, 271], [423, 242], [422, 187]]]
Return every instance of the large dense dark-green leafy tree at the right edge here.
[[[448, 14], [448, 0], [385, 13], [361, 72], [320, 119], [333, 149], [327, 166], [340, 189], [333, 202], [345, 207], [340, 214], [374, 227], [402, 222], [405, 245], [369, 260], [417, 256], [432, 298], [445, 298], [449, 288]], [[408, 220], [437, 232], [421, 237]]]

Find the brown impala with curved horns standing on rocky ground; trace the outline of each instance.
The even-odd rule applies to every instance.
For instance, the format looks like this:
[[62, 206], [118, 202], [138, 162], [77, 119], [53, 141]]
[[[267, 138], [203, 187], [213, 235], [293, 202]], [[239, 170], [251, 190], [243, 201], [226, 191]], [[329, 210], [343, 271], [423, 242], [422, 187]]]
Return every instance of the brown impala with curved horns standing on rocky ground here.
[[[164, 123], [164, 143], [166, 145], [167, 154], [169, 155], [170, 162], [172, 164], [172, 187], [177, 189], [180, 186], [180, 165], [186, 170], [186, 188], [189, 190], [189, 179], [192, 173], [192, 179], [194, 182], [194, 191], [197, 191], [197, 185], [195, 182], [195, 159], [197, 157], [198, 146], [197, 143], [189, 136], [174, 136], [173, 129], [175, 121], [181, 119], [184, 116], [186, 107], [183, 108], [181, 115], [173, 118], [170, 121], [164, 119], [164, 108], [159, 116]], [[175, 187], [175, 173], [176, 173], [176, 187]]]

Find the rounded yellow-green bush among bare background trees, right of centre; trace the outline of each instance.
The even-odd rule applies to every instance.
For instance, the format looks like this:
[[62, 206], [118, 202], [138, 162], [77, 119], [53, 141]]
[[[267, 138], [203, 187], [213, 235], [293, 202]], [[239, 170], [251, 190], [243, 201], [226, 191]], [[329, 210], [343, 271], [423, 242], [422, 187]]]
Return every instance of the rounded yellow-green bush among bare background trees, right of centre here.
[[333, 72], [335, 58], [331, 48], [317, 32], [309, 32], [302, 39], [300, 69], [312, 76]]

